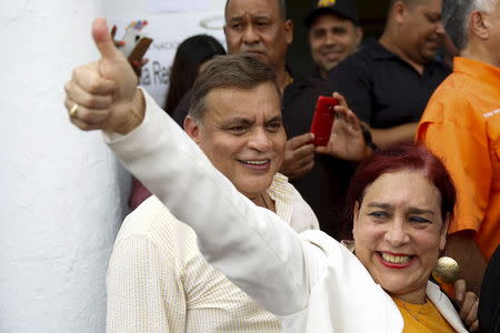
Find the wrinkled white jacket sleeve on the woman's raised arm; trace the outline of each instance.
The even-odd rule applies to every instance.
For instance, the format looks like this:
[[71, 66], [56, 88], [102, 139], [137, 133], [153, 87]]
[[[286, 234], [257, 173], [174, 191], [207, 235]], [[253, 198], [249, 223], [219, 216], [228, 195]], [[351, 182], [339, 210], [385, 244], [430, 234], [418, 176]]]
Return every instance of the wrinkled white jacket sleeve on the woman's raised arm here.
[[198, 234], [201, 253], [266, 310], [287, 315], [309, 295], [298, 234], [237, 191], [144, 92], [128, 135], [104, 134], [123, 165]]

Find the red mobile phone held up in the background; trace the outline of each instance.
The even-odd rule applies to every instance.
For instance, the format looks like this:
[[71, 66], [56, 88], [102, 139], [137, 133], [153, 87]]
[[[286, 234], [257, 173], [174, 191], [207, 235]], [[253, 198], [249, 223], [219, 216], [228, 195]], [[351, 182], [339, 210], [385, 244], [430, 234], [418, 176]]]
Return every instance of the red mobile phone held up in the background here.
[[314, 117], [312, 118], [311, 133], [314, 134], [314, 145], [327, 145], [330, 140], [331, 127], [336, 117], [333, 107], [339, 100], [331, 97], [320, 95], [316, 103]]

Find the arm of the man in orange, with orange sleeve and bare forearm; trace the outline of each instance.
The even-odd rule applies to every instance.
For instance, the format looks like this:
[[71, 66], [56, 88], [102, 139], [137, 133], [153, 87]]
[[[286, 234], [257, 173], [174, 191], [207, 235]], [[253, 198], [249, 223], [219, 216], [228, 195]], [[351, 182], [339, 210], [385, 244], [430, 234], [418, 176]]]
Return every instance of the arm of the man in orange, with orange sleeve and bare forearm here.
[[[470, 110], [474, 110], [470, 101], [456, 97], [447, 99], [446, 103], [431, 101], [426, 113], [454, 112], [461, 117], [471, 117]], [[448, 231], [446, 251], [460, 264], [461, 276], [478, 295], [486, 256], [474, 238], [481, 232], [492, 180], [489, 151], [481, 140], [482, 137], [469, 127], [448, 120], [424, 120], [420, 123], [417, 135], [417, 141], [423, 142], [441, 158], [457, 188], [457, 206]]]

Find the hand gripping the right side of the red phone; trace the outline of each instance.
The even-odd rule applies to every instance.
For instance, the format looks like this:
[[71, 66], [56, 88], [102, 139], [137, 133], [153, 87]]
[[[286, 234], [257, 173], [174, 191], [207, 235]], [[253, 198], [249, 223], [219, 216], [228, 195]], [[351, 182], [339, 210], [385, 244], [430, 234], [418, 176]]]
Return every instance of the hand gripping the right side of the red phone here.
[[340, 93], [334, 92], [333, 97], [339, 100], [339, 104], [334, 107], [336, 119], [330, 140], [327, 145], [317, 147], [316, 151], [347, 161], [361, 161], [368, 155], [369, 149], [364, 144], [360, 121]]

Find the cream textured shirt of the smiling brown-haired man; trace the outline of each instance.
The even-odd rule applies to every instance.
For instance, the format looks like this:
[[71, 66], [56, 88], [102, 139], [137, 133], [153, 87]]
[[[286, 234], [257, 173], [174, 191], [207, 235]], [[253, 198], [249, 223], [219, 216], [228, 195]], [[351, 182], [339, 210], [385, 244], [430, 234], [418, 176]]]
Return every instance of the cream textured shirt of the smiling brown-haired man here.
[[[268, 194], [293, 229], [318, 229], [286, 176], [277, 174]], [[123, 222], [107, 287], [108, 332], [281, 332], [271, 313], [203, 259], [194, 231], [156, 196]]]

